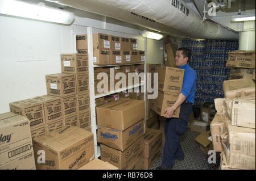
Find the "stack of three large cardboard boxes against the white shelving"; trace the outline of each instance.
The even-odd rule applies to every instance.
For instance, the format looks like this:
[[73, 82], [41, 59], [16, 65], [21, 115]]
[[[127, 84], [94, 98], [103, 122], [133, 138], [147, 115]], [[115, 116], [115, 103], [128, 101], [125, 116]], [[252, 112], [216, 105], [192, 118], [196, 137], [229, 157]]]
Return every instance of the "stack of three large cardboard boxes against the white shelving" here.
[[119, 99], [96, 111], [101, 160], [118, 169], [143, 169], [144, 102]]

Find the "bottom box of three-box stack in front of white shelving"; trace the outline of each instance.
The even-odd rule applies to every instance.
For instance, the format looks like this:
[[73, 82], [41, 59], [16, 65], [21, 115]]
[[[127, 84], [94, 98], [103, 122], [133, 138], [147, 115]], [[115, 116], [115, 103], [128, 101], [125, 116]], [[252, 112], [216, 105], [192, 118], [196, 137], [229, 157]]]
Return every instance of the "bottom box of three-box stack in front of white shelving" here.
[[133, 162], [143, 154], [143, 136], [129, 146], [125, 151], [110, 148], [101, 144], [101, 160], [123, 169], [133, 165]]

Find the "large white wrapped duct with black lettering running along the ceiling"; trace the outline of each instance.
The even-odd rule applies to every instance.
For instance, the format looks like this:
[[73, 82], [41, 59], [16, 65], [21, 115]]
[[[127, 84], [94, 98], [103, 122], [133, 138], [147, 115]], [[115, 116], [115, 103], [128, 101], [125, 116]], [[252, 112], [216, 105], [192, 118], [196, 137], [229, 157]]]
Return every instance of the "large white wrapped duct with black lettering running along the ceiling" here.
[[238, 33], [213, 22], [201, 22], [201, 17], [181, 0], [52, 0], [51, 2], [137, 24], [173, 36], [238, 39]]

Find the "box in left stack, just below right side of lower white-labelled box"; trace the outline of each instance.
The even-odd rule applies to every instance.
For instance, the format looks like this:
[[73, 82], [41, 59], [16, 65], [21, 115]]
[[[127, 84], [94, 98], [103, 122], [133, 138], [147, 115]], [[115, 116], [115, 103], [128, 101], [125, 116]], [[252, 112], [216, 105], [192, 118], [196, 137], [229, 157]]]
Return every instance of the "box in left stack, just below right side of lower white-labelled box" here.
[[63, 113], [64, 118], [67, 116], [75, 115], [77, 113], [77, 106], [76, 106], [76, 95], [71, 95], [63, 98]]

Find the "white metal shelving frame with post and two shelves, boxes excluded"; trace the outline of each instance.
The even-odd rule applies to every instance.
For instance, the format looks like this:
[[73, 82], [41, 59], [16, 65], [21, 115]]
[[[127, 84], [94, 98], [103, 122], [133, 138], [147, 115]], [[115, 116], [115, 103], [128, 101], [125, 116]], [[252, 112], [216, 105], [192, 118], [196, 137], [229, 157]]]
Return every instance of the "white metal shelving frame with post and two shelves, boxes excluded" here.
[[[138, 85], [128, 86], [122, 89], [118, 89], [112, 92], [104, 92], [101, 94], [94, 94], [94, 69], [96, 67], [110, 67], [110, 66], [123, 66], [123, 65], [136, 65], [136, 64], [144, 64], [144, 71], [146, 71], [146, 61], [145, 63], [134, 63], [134, 64], [123, 64], [123, 65], [94, 65], [93, 64], [93, 28], [87, 28], [87, 37], [88, 37], [88, 66], [89, 66], [89, 91], [90, 91], [90, 117], [91, 117], [91, 127], [93, 133], [93, 142], [94, 142], [94, 157], [100, 157], [100, 146], [97, 143], [97, 124], [96, 124], [96, 107], [95, 107], [95, 99], [101, 98], [107, 95], [115, 94], [117, 92], [122, 92], [125, 90], [133, 89], [135, 87], [143, 86], [144, 87], [144, 100], [146, 100], [146, 76], [144, 81], [139, 83]], [[146, 54], [147, 41], [144, 38], [144, 51]]]

